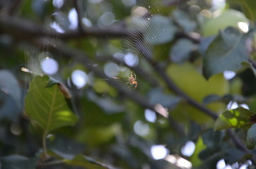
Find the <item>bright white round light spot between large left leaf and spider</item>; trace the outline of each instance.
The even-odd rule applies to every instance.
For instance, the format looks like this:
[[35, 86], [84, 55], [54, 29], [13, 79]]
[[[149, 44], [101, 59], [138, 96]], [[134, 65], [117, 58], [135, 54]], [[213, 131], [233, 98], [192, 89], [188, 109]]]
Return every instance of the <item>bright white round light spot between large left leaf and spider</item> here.
[[82, 70], [74, 70], [71, 74], [71, 80], [78, 89], [81, 89], [87, 84], [88, 75]]

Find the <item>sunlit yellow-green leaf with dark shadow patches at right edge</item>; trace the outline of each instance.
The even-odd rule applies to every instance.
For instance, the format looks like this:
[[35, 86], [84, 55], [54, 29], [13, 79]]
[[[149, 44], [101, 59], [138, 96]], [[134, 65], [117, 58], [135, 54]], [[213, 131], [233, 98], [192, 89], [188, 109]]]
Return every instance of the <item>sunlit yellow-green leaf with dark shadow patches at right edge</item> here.
[[243, 107], [225, 111], [216, 120], [214, 129], [225, 130], [228, 128], [248, 128], [252, 125], [252, 119], [255, 115], [255, 113], [252, 113]]

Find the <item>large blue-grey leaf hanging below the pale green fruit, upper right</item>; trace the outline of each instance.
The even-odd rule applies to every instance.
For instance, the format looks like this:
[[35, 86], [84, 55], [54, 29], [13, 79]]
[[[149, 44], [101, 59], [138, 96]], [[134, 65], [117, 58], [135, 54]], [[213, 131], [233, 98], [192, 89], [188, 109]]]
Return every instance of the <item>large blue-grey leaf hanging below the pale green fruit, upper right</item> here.
[[221, 31], [204, 56], [204, 76], [209, 79], [225, 70], [236, 71], [243, 68], [241, 63], [249, 58], [245, 48], [247, 38], [248, 34], [242, 34], [231, 27]]

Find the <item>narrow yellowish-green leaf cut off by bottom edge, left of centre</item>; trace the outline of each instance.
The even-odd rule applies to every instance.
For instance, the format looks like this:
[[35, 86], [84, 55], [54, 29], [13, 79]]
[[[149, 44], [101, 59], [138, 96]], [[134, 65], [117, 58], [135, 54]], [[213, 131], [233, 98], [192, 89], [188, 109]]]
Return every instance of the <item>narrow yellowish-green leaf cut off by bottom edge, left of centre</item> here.
[[87, 169], [110, 169], [112, 167], [105, 165], [103, 163], [99, 163], [98, 161], [94, 161], [92, 158], [88, 158], [86, 156], [75, 156], [71, 161], [66, 161], [69, 165], [80, 165]]

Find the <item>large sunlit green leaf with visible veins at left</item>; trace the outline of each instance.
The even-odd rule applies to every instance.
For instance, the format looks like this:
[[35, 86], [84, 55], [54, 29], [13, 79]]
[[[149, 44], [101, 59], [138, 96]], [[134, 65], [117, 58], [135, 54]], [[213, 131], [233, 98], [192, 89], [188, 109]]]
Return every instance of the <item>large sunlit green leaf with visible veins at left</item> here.
[[25, 112], [45, 133], [66, 125], [74, 125], [78, 118], [66, 102], [62, 84], [50, 84], [47, 76], [36, 76], [25, 97]]

